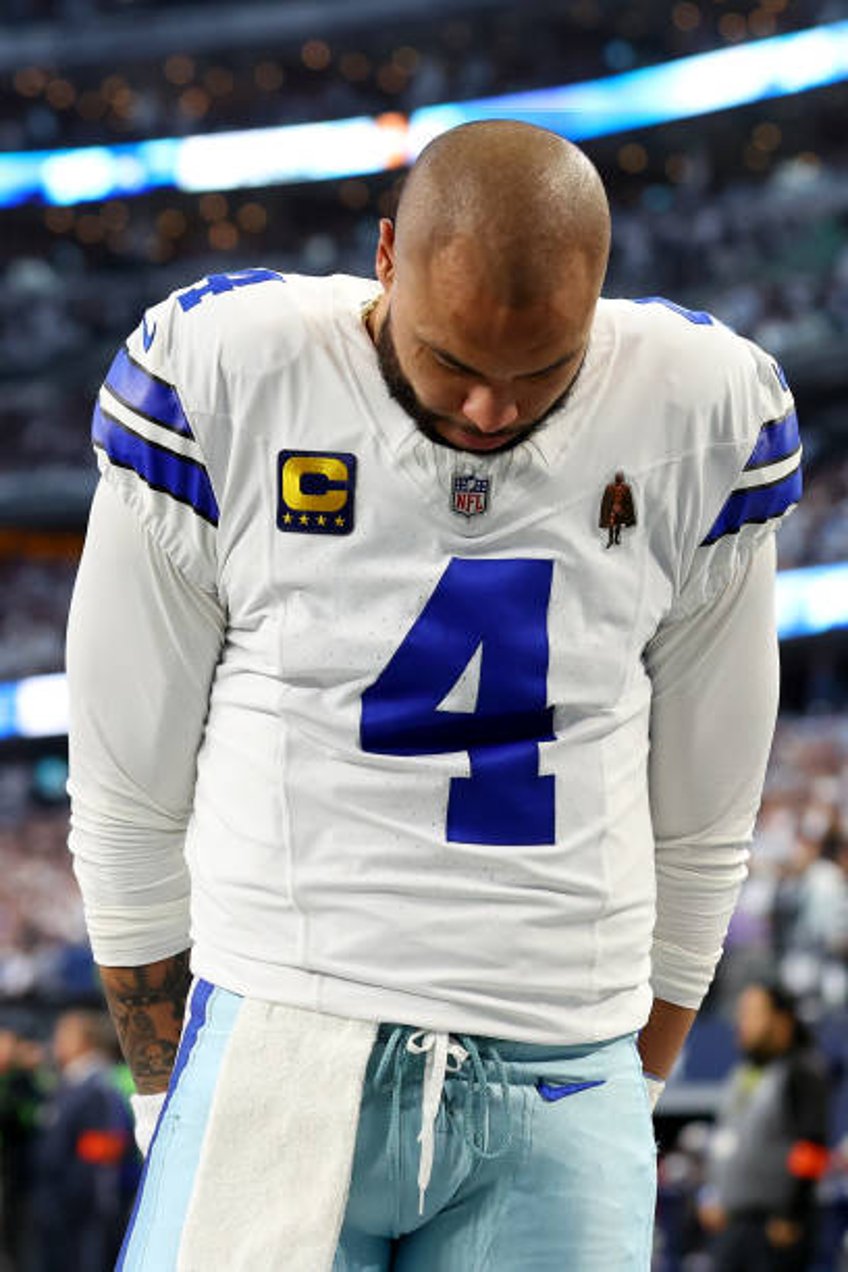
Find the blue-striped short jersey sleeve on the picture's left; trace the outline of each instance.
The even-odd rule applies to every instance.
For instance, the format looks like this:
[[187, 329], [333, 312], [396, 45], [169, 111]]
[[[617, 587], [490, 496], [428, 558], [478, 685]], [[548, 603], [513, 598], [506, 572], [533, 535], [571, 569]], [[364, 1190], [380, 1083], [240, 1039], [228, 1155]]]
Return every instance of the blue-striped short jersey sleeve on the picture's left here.
[[201, 426], [214, 418], [207, 389], [214, 354], [192, 342], [181, 315], [179, 296], [149, 309], [114, 355], [92, 440], [104, 481], [179, 570], [211, 591], [219, 497]]

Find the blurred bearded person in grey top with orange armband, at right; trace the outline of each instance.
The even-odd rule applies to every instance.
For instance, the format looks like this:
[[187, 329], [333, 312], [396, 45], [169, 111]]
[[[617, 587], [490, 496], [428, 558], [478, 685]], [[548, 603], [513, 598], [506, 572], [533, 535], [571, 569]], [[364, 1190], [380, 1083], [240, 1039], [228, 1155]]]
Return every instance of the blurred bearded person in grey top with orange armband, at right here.
[[712, 1136], [699, 1219], [715, 1272], [804, 1272], [815, 1189], [828, 1168], [826, 1067], [793, 1000], [772, 985], [740, 996], [734, 1071]]

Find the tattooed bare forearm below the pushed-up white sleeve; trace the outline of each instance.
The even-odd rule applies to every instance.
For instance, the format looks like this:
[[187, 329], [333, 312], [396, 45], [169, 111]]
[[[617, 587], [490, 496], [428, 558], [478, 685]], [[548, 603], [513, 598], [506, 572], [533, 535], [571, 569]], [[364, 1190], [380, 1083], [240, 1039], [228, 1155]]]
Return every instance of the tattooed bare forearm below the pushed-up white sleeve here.
[[188, 950], [145, 967], [102, 967], [121, 1049], [142, 1094], [170, 1076], [191, 986]]

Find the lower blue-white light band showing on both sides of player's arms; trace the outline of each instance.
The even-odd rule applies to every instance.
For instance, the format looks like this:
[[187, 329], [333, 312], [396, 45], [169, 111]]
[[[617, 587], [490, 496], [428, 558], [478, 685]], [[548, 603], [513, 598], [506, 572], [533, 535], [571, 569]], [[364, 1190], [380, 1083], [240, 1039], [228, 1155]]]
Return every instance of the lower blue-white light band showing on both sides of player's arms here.
[[[781, 640], [848, 627], [848, 562], [782, 570], [777, 576]], [[67, 733], [67, 684], [61, 673], [0, 682], [0, 742]]]

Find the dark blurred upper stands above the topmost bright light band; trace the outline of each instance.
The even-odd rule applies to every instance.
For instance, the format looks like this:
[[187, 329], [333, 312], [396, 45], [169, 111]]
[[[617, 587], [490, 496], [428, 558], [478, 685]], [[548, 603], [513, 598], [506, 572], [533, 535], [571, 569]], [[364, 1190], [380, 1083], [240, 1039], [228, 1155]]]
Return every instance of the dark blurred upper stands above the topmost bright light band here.
[[[431, 0], [386, 3], [385, 13], [366, 24], [356, 6], [338, 0], [314, 5], [311, 18], [301, 6], [299, 23], [285, 20], [280, 8], [253, 0], [247, 23], [231, 22], [221, 10], [217, 39], [206, 31], [203, 55], [196, 57], [175, 34], [181, 13], [187, 31], [197, 31], [184, 3], [6, 0], [10, 51], [28, 19], [66, 24], [76, 48], [85, 43], [86, 24], [94, 37], [120, 33], [123, 22], [123, 29], [132, 27], [132, 41], [122, 46], [117, 71], [75, 56], [69, 45], [58, 65], [55, 53], [46, 64], [18, 61], [0, 83], [0, 144], [44, 149], [181, 136], [244, 127], [245, 121], [408, 113], [434, 102], [591, 79], [843, 15], [839, 0], [735, 0], [725, 9], [709, 0]], [[173, 47], [164, 55], [155, 19], [147, 29], [133, 22], [145, 9], [172, 10]], [[104, 25], [103, 17], [117, 24]], [[191, 47], [191, 34], [186, 43]], [[22, 46], [22, 55], [28, 47]]]

